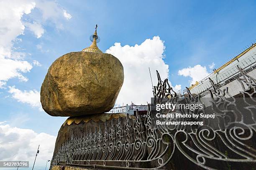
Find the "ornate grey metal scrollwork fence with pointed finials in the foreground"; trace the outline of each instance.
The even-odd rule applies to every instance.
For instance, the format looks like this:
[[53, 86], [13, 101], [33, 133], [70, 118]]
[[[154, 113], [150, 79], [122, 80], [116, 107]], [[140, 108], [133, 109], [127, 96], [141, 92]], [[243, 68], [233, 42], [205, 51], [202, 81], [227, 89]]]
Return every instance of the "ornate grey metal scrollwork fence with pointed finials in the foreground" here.
[[[240, 69], [240, 68], [239, 68]], [[53, 165], [78, 165], [116, 169], [164, 169], [171, 166], [177, 155], [201, 167], [199, 169], [236, 169], [253, 167], [256, 163], [256, 80], [240, 69], [238, 79], [241, 97], [232, 97], [228, 88], [220, 90], [211, 82], [211, 105], [202, 109], [177, 109], [180, 114], [208, 114], [215, 119], [202, 118], [203, 125], [156, 125], [156, 111], [148, 105], [146, 115], [128, 116], [125, 121], [98, 127], [82, 136], [72, 136], [53, 156]], [[168, 83], [161, 80], [154, 86], [156, 103], [202, 104], [199, 95], [187, 89], [187, 95], [177, 97]], [[163, 112], [170, 113], [170, 110]], [[195, 121], [194, 118], [164, 118], [166, 121]], [[198, 121], [198, 120], [197, 120]], [[246, 163], [246, 164], [244, 164]], [[174, 163], [175, 164], [175, 163]], [[225, 167], [225, 168], [223, 168]], [[175, 169], [175, 167], [173, 168]]]

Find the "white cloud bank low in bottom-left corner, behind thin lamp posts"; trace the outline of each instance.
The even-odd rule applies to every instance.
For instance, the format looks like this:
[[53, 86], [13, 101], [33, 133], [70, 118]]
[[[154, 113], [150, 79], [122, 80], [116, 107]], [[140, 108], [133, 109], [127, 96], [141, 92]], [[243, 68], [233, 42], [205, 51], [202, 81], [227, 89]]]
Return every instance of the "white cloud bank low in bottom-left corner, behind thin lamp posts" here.
[[51, 159], [53, 155], [56, 137], [46, 133], [36, 133], [31, 129], [12, 127], [5, 122], [0, 122], [0, 161], [28, 160], [31, 167], [40, 144], [36, 165], [45, 167], [46, 160]]

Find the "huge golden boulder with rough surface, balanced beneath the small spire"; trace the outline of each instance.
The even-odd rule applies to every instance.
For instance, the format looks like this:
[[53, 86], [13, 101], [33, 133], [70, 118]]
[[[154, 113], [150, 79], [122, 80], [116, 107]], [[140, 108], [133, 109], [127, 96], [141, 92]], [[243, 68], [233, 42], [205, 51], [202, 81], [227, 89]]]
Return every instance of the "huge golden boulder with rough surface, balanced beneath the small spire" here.
[[41, 104], [51, 116], [108, 112], [123, 79], [123, 65], [113, 55], [70, 52], [49, 67], [41, 86]]

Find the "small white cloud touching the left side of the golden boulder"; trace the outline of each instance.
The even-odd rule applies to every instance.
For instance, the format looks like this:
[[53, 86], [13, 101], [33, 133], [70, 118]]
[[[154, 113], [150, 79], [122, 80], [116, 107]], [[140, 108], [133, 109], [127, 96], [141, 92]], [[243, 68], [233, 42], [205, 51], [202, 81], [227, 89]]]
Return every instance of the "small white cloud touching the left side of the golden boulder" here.
[[40, 92], [37, 90], [21, 91], [15, 86], [9, 86], [9, 93], [12, 94], [12, 97], [18, 102], [27, 103], [32, 107], [38, 107], [40, 111], [43, 111], [41, 102], [40, 102]]

